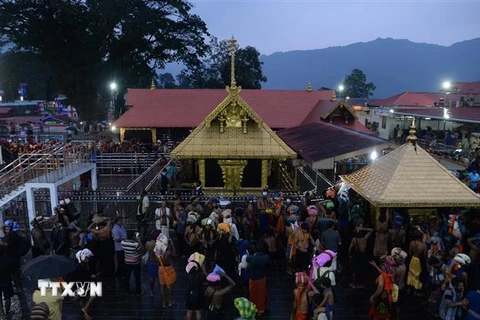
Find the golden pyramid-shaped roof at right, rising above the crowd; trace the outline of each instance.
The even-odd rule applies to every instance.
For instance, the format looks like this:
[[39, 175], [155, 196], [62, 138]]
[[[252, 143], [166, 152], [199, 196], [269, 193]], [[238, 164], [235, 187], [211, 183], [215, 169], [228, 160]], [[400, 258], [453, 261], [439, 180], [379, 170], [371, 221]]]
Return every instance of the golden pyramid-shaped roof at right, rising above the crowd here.
[[411, 142], [341, 178], [377, 207], [480, 206], [478, 194]]

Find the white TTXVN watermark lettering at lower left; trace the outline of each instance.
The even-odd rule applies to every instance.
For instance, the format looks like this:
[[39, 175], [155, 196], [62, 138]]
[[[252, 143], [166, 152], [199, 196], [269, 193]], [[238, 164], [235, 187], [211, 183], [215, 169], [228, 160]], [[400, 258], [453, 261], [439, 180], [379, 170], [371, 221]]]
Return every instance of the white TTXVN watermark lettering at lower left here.
[[[52, 296], [62, 297], [101, 297], [102, 283], [101, 282], [54, 282], [38, 280], [38, 288], [40, 295], [45, 297], [47, 289], [52, 289]], [[63, 290], [63, 291], [62, 291]]]

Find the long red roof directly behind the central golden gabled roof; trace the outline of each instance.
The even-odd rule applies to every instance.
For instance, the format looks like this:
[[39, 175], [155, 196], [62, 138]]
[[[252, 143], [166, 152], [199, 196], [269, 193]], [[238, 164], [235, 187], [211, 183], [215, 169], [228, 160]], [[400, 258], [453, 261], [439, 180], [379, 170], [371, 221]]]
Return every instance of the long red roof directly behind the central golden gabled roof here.
[[[193, 128], [227, 97], [224, 89], [128, 89], [132, 106], [114, 125], [119, 128]], [[270, 128], [300, 125], [331, 90], [242, 90], [240, 96]]]

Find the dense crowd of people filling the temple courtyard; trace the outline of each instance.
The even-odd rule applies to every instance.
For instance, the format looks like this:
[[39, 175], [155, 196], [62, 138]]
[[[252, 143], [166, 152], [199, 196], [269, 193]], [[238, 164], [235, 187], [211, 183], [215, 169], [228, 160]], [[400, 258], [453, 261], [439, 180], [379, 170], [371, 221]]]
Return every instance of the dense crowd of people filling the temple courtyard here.
[[[337, 196], [338, 193], [338, 196]], [[338, 277], [349, 278], [352, 289], [363, 288], [376, 273], [370, 296], [371, 319], [399, 319], [409, 299], [422, 300], [433, 316], [455, 320], [478, 319], [480, 313], [480, 215], [476, 211], [436, 211], [415, 223], [400, 210], [377, 215], [362, 209], [353, 191], [346, 207], [342, 190], [331, 188], [318, 201], [310, 194], [297, 199], [264, 190], [244, 206], [197, 196], [184, 202], [157, 205], [144, 192], [138, 197], [137, 230], [126, 230], [120, 216], [101, 211], [79, 226], [79, 213], [62, 200], [55, 214], [32, 223], [32, 256], [57, 254], [78, 261], [67, 281], [116, 277], [126, 294], [142, 296], [142, 266], [149, 294], [159, 290], [163, 308], [185, 304], [186, 319], [225, 319], [233, 300], [239, 319], [268, 315], [267, 275], [271, 270], [289, 276], [292, 292], [290, 319], [328, 319], [335, 316]], [[348, 206], [347, 206], [348, 207]], [[51, 236], [43, 221], [53, 224]], [[19, 276], [25, 241], [19, 226], [6, 221], [0, 245], [0, 292], [9, 312], [9, 298], [21, 290]], [[183, 264], [184, 268], [174, 268]], [[184, 301], [175, 301], [177, 275], [185, 272]], [[133, 284], [131, 278], [133, 274]], [[12, 281], [15, 290], [12, 287]], [[366, 290], [366, 289], [365, 289]], [[32, 314], [48, 311], [61, 319], [61, 299], [33, 293]], [[90, 319], [95, 298], [79, 298]], [[45, 318], [46, 319], [46, 318]]]

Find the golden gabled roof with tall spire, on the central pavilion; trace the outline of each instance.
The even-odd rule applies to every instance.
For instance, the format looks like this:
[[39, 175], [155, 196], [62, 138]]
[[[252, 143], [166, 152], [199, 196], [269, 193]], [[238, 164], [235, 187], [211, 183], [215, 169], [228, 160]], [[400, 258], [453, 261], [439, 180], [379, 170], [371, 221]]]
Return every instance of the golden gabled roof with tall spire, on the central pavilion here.
[[292, 159], [297, 154], [242, 99], [235, 82], [235, 44], [230, 42], [228, 96], [172, 152], [183, 159]]

